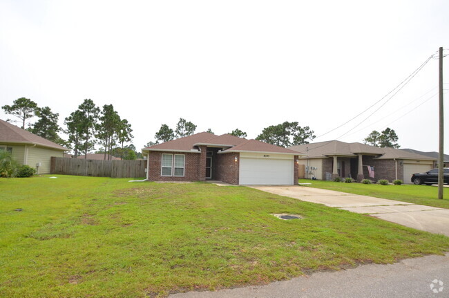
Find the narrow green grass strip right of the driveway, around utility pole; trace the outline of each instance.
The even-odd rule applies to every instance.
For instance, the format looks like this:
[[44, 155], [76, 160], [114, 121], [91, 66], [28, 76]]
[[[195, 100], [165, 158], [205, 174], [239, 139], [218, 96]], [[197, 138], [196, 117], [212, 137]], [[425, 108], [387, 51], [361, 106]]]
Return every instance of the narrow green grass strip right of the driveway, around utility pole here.
[[429, 185], [379, 185], [308, 179], [300, 179], [299, 183], [311, 183], [310, 185], [302, 186], [336, 190], [350, 194], [361, 194], [363, 196], [374, 196], [376, 198], [388, 198], [390, 200], [449, 209], [448, 187], [443, 187], [443, 200], [439, 200], [438, 187]]

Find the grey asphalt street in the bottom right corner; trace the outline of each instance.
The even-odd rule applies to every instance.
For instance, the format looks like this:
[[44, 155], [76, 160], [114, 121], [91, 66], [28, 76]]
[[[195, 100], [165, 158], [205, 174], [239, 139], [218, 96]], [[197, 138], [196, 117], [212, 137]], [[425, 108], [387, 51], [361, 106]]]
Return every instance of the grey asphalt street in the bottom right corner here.
[[370, 264], [337, 272], [316, 272], [265, 286], [216, 292], [186, 292], [173, 298], [367, 298], [449, 297], [449, 254]]

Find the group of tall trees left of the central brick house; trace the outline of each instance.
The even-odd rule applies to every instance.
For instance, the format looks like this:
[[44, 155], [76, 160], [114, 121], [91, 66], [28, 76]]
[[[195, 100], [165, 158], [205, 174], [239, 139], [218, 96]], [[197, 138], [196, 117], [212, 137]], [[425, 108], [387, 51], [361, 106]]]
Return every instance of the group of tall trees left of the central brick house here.
[[[120, 118], [112, 104], [105, 104], [102, 109], [95, 106], [93, 100], [84, 100], [78, 109], [65, 118], [66, 129], [59, 127], [58, 113], [52, 113], [50, 107], [40, 108], [36, 102], [21, 97], [15, 100], [12, 105], [2, 106], [5, 113], [14, 115], [21, 120], [21, 128], [25, 129], [27, 120], [36, 116], [37, 122], [30, 124], [26, 130], [41, 136], [47, 140], [55, 142], [61, 146], [73, 149], [74, 157], [79, 153], [87, 153], [95, 149], [99, 144], [104, 149], [97, 151], [104, 154], [104, 159], [111, 159], [111, 156], [122, 159], [135, 159], [140, 153], [135, 151], [131, 144], [125, 146], [126, 142], [133, 139], [131, 124], [126, 119]], [[7, 121], [11, 121], [8, 119]], [[68, 140], [63, 140], [59, 132], [68, 134]], [[130, 151], [133, 151], [131, 153]]]

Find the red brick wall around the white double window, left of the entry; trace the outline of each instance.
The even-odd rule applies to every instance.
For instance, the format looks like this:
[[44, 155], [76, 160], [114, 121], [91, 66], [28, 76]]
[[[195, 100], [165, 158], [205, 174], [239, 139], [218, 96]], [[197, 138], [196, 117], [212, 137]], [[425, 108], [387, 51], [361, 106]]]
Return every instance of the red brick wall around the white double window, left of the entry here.
[[[166, 154], [183, 154], [185, 156], [184, 177], [161, 176], [161, 160], [162, 153]], [[204, 153], [205, 154], [205, 153]], [[198, 181], [200, 180], [200, 154], [187, 152], [155, 152], [149, 154], [149, 180], [150, 181]], [[204, 173], [205, 169], [204, 159]]]

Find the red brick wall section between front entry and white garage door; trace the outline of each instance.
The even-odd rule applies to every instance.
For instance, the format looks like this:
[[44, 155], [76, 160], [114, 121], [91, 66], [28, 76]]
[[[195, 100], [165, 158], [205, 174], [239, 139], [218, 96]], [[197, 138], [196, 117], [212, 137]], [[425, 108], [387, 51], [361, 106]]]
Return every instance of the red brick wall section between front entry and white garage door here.
[[[237, 157], [237, 161], [235, 158]], [[216, 155], [216, 180], [238, 185], [240, 169], [240, 153], [225, 153]]]

